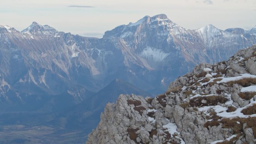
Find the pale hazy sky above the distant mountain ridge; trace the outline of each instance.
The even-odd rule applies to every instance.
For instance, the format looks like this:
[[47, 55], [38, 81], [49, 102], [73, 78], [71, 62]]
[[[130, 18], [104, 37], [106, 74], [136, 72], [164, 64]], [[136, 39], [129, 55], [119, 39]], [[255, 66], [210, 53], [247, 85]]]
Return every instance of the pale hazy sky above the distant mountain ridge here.
[[118, 25], [165, 13], [184, 28], [256, 25], [256, 0], [0, 0], [0, 25], [23, 30], [33, 21], [58, 31], [102, 37]]

